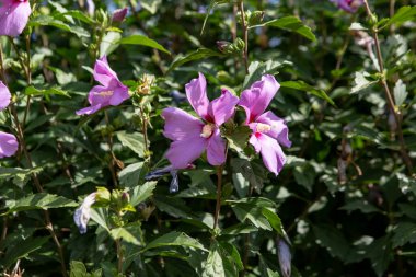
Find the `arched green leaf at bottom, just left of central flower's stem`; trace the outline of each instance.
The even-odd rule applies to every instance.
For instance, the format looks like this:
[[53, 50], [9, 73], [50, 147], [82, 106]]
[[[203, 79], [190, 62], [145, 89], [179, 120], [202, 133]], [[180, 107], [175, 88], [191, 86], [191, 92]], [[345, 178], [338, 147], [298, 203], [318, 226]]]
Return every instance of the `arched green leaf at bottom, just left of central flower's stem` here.
[[184, 246], [207, 251], [204, 245], [184, 232], [170, 232], [150, 242], [141, 252], [163, 246]]

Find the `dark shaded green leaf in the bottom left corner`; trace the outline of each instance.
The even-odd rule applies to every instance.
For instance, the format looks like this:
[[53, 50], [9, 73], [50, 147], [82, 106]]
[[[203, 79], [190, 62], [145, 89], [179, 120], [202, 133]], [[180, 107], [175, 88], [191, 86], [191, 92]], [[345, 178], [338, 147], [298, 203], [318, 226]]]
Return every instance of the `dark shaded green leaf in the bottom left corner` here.
[[8, 249], [4, 255], [4, 258], [0, 261], [1, 262], [0, 264], [3, 265], [4, 267], [10, 267], [14, 263], [16, 263], [18, 259], [27, 257], [28, 254], [41, 249], [42, 245], [44, 245], [48, 241], [49, 241], [48, 236], [28, 238], [25, 240], [20, 240], [19, 243], [15, 242], [16, 244], [14, 247]]

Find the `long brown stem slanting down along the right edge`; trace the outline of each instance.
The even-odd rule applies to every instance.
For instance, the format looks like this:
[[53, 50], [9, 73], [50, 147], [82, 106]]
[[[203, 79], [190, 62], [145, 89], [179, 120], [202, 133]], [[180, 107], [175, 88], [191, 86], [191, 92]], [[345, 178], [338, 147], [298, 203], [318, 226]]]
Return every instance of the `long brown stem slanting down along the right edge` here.
[[[363, 2], [366, 5], [367, 15], [370, 19], [374, 18], [373, 13], [371, 12], [371, 9], [368, 4], [368, 0], [363, 0]], [[384, 76], [383, 57], [381, 56], [380, 41], [379, 41], [378, 32], [379, 32], [378, 28], [375, 26], [373, 26], [372, 27], [372, 36], [374, 38], [377, 59], [379, 61], [379, 72], [382, 74], [382, 78], [380, 79], [380, 83], [384, 89], [385, 99], [388, 101], [389, 108], [393, 113], [394, 119], [397, 124], [398, 143], [400, 143], [400, 148], [401, 148], [400, 151], [402, 154], [403, 162], [406, 165], [408, 173], [412, 175], [413, 174], [413, 164], [412, 164], [412, 160], [411, 160], [409, 155], [407, 154], [406, 145], [404, 141], [403, 130], [402, 130], [402, 120], [401, 120], [401, 117], [400, 117], [400, 115], [395, 108], [394, 100], [392, 97], [392, 93], [390, 92], [390, 89], [389, 89], [389, 85], [388, 85], [388, 82], [386, 82], [385, 76]]]

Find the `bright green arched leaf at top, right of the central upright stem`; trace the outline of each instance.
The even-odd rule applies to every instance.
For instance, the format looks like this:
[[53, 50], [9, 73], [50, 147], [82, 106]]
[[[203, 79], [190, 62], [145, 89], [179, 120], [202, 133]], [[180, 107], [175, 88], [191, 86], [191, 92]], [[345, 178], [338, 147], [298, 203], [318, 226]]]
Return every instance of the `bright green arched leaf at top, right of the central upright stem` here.
[[303, 24], [303, 22], [297, 16], [292, 16], [292, 15], [285, 16], [281, 19], [268, 21], [263, 24], [254, 25], [251, 27], [259, 27], [259, 26], [273, 26], [273, 27], [278, 27], [278, 28], [296, 32], [312, 42], [316, 41], [316, 37], [312, 33], [311, 28], [307, 26], [305, 24]]

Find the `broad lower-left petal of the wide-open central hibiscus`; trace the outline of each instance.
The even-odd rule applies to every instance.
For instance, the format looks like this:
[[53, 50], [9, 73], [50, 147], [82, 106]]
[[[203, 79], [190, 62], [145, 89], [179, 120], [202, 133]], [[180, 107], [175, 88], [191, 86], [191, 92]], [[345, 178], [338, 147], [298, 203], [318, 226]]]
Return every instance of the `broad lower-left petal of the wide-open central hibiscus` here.
[[207, 139], [186, 137], [183, 140], [173, 141], [166, 152], [166, 158], [174, 169], [186, 169], [189, 163], [200, 157], [207, 147]]

